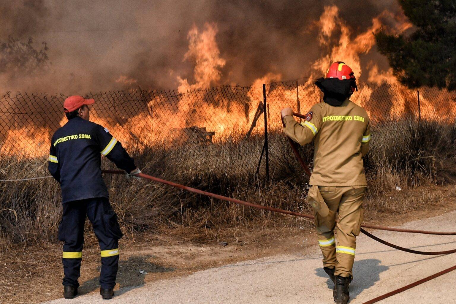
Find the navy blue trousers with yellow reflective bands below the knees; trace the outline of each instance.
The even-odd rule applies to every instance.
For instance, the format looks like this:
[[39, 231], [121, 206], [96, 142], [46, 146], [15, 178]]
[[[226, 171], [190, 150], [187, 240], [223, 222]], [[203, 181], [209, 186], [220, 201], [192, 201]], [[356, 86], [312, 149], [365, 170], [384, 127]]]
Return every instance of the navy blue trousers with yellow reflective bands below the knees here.
[[86, 216], [92, 223], [98, 238], [101, 254], [100, 286], [111, 289], [115, 286], [119, 267], [119, 243], [122, 237], [117, 215], [104, 197], [63, 204], [62, 222], [59, 225], [59, 240], [63, 241], [63, 286], [79, 287], [81, 260], [84, 244]]

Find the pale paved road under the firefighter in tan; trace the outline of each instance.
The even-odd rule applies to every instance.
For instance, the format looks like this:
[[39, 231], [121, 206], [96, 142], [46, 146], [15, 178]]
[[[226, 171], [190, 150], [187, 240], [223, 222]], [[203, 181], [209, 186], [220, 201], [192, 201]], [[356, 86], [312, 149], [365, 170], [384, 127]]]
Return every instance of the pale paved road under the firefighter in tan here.
[[[456, 211], [409, 222], [403, 228], [436, 231], [456, 230]], [[456, 236], [374, 231], [374, 234], [403, 247], [422, 251], [456, 247]], [[310, 236], [314, 237], [312, 233]], [[352, 304], [360, 304], [406, 284], [425, 278], [456, 264], [456, 254], [424, 256], [386, 247], [361, 235], [354, 265], [355, 278], [350, 285]], [[456, 303], [456, 271], [392, 296], [379, 303]], [[173, 278], [145, 286], [117, 291], [109, 302], [98, 294], [76, 299], [57, 299], [48, 304], [134, 303], [134, 304], [208, 304], [208, 303], [334, 303], [332, 282], [321, 268], [318, 246], [306, 252], [279, 255], [199, 271], [188, 277]]]

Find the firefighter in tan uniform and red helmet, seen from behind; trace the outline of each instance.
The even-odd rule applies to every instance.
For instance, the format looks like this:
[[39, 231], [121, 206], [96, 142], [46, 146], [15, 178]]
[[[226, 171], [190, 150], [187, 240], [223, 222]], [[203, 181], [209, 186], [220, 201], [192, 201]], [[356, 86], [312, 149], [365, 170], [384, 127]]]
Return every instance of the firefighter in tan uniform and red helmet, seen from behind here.
[[291, 108], [282, 110], [282, 119], [285, 133], [295, 142], [304, 145], [314, 140], [314, 170], [307, 198], [314, 209], [324, 270], [335, 284], [334, 301], [345, 304], [356, 236], [363, 222], [366, 177], [362, 156], [369, 150], [369, 117], [348, 99], [358, 88], [345, 63], [334, 62], [326, 78], [315, 84], [324, 93], [323, 102], [315, 104], [301, 123], [295, 121]]

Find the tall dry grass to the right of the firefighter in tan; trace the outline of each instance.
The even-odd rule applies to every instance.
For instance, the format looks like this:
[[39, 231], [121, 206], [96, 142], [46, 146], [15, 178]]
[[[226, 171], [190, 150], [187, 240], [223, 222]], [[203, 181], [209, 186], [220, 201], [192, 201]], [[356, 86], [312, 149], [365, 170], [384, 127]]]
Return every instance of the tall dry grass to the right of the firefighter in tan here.
[[373, 149], [366, 164], [368, 173], [376, 175], [383, 170], [383, 174], [399, 174], [402, 183], [411, 186], [454, 182], [456, 124], [432, 121], [419, 124], [414, 120], [399, 123], [404, 125], [406, 128], [387, 124], [374, 133]]

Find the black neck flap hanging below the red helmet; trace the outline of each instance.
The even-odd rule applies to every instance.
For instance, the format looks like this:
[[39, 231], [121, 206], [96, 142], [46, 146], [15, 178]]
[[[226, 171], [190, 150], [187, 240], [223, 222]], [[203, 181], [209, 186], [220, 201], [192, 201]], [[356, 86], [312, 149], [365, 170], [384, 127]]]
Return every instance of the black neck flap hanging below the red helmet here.
[[338, 78], [318, 78], [315, 85], [323, 92], [323, 101], [331, 106], [339, 107], [345, 99], [352, 96], [354, 90], [358, 92], [356, 78], [340, 80]]

